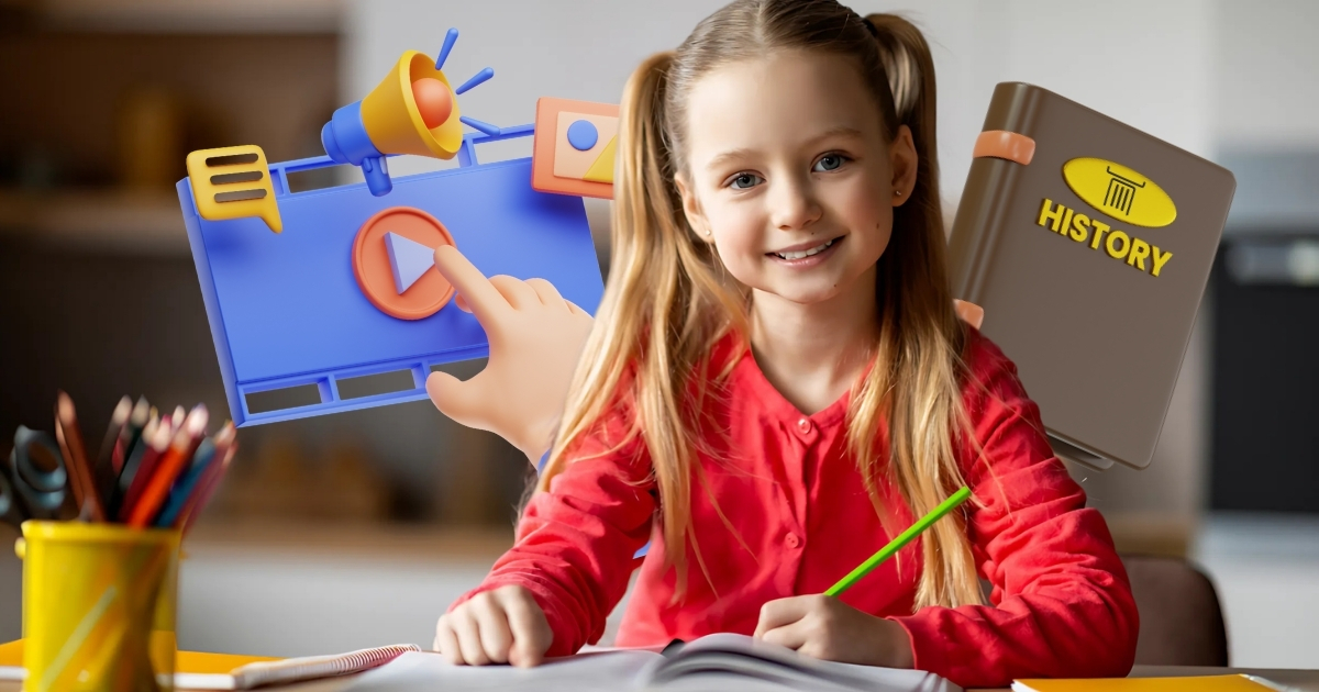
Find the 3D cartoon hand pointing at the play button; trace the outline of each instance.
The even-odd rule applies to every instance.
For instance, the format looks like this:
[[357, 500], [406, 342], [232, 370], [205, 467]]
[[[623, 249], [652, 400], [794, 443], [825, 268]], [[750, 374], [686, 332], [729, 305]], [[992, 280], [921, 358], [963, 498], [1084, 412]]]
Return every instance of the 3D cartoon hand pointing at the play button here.
[[435, 268], [458, 291], [458, 307], [481, 323], [491, 355], [467, 381], [431, 373], [426, 391], [441, 413], [504, 438], [534, 467], [550, 448], [594, 320], [542, 278], [487, 279], [452, 245], [435, 249]]

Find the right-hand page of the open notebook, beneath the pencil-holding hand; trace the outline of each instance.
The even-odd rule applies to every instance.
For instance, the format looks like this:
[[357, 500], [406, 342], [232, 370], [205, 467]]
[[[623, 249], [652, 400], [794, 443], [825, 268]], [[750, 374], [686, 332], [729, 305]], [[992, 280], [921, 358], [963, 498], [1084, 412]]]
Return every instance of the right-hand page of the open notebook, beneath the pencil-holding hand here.
[[960, 692], [960, 688], [925, 671], [853, 666], [805, 656], [744, 634], [711, 634], [687, 643], [669, 659], [640, 674], [648, 689], [669, 689], [683, 679], [736, 672], [777, 683], [789, 689], [868, 689], [881, 692]]

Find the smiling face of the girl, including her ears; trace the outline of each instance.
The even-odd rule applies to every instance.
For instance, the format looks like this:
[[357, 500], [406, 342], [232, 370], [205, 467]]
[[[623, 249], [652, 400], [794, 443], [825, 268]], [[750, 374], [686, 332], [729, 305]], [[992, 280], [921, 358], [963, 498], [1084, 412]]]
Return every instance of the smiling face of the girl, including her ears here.
[[873, 295], [917, 157], [905, 125], [885, 140], [851, 61], [781, 50], [721, 66], [692, 86], [686, 128], [683, 211], [735, 278], [802, 304]]

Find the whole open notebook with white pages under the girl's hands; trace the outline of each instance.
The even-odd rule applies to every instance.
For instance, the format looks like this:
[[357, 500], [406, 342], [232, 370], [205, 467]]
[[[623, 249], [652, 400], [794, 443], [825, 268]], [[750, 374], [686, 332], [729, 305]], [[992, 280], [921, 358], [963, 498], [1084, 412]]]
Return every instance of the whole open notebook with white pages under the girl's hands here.
[[803, 656], [743, 634], [710, 634], [669, 649], [592, 651], [549, 659], [533, 668], [451, 666], [430, 652], [409, 652], [364, 674], [351, 692], [413, 689], [960, 692], [925, 671], [852, 666]]

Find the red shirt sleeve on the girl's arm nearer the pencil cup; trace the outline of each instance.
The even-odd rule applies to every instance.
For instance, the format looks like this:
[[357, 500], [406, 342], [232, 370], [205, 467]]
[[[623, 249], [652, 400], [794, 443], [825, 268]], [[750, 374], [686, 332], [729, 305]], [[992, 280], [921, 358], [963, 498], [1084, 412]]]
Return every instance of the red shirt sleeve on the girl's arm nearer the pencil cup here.
[[615, 411], [574, 444], [549, 490], [532, 496], [513, 547], [450, 612], [477, 593], [517, 584], [532, 592], [554, 633], [546, 656], [600, 641], [657, 506], [645, 446], [640, 435], [620, 446], [627, 431], [624, 415]]

